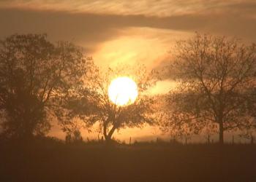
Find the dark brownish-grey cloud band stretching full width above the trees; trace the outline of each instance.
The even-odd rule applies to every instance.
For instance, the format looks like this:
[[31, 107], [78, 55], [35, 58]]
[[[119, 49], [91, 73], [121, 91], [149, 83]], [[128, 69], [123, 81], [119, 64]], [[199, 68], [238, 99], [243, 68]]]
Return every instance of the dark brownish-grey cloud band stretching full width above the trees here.
[[[241, 9], [254, 8], [244, 6]], [[91, 44], [118, 36], [121, 28], [148, 27], [172, 31], [219, 33], [255, 40], [256, 17], [241, 15], [235, 10], [236, 8], [233, 8], [233, 12], [169, 17], [0, 9], [0, 33], [1, 36], [6, 36], [10, 33], [46, 32], [55, 39], [65, 38], [75, 41], [83, 39], [84, 42]]]

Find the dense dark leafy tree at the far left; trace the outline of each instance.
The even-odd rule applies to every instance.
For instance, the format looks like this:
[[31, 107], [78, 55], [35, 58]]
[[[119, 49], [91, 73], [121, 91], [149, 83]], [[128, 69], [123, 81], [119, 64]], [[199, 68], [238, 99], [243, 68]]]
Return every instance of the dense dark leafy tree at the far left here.
[[1, 126], [7, 135], [43, 135], [50, 129], [46, 117], [84, 85], [91, 60], [72, 43], [46, 38], [27, 34], [0, 41]]

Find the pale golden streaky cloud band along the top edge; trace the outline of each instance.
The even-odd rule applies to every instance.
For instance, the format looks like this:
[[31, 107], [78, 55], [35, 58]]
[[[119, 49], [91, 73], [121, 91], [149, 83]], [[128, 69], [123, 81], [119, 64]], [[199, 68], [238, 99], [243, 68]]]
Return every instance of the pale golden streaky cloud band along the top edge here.
[[[86, 12], [108, 15], [146, 15], [168, 17], [228, 9], [248, 9], [252, 0], [5, 0], [1, 7], [50, 9], [68, 12]], [[240, 10], [239, 10], [240, 11]]]

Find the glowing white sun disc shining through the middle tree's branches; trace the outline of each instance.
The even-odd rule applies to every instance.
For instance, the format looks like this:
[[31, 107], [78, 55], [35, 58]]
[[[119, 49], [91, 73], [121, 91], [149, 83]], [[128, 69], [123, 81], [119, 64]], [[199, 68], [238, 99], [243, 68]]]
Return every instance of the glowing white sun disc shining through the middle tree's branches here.
[[137, 84], [127, 76], [113, 79], [108, 87], [108, 96], [118, 106], [134, 103], [138, 97]]

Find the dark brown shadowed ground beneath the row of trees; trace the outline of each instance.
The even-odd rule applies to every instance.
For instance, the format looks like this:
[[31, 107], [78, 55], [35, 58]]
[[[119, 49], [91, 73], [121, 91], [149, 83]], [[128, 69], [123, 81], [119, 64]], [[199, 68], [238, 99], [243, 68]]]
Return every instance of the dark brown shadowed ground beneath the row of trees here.
[[0, 181], [256, 182], [256, 145], [0, 143]]

